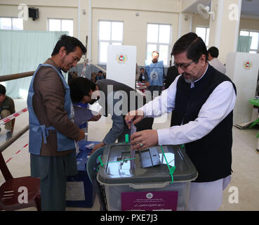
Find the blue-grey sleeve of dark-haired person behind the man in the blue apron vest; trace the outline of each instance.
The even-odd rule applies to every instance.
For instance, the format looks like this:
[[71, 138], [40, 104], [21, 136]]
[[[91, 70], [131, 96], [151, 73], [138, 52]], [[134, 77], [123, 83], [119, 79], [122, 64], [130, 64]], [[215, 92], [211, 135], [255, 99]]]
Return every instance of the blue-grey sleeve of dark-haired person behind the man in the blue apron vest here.
[[78, 126], [88, 120], [91, 120], [94, 115], [98, 115], [97, 112], [89, 110], [88, 108], [81, 107], [79, 105], [73, 105], [74, 107], [74, 123]]

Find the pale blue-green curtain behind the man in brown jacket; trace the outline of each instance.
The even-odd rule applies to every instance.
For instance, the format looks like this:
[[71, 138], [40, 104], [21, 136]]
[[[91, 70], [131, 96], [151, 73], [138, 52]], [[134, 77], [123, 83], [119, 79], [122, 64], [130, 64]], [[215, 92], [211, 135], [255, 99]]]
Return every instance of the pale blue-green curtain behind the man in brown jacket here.
[[[36, 70], [44, 63], [62, 34], [68, 32], [0, 30], [0, 76]], [[32, 77], [1, 82], [6, 95], [27, 98]]]

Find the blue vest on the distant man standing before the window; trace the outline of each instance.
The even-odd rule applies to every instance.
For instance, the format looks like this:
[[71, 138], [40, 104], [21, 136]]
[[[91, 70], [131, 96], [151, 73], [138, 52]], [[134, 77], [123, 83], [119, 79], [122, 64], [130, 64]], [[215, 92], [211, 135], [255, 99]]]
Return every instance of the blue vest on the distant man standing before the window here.
[[159, 61], [157, 63], [150, 63], [149, 65], [146, 65], [146, 72], [148, 75], [150, 86], [163, 86], [163, 61]]

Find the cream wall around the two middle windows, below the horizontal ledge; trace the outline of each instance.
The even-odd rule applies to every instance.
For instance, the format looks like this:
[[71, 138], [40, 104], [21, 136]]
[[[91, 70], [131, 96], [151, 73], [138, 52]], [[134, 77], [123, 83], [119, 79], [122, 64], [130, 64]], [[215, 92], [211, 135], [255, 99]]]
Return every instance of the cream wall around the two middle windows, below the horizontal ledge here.
[[145, 65], [146, 59], [146, 41], [147, 41], [147, 23], [164, 23], [172, 26], [172, 41], [178, 39], [178, 13], [163, 13], [154, 11], [138, 11], [140, 14], [135, 16], [135, 11], [124, 9], [106, 9], [93, 8], [93, 42], [92, 59], [94, 63], [98, 62], [98, 20], [119, 20], [124, 22], [124, 45], [137, 46], [137, 63]]

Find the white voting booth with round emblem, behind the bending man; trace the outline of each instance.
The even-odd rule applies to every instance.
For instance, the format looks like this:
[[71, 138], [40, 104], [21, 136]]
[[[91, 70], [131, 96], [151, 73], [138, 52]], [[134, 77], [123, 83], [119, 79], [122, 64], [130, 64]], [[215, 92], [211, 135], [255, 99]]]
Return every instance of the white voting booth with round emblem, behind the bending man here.
[[109, 45], [106, 78], [121, 82], [135, 89], [136, 60], [136, 46]]

